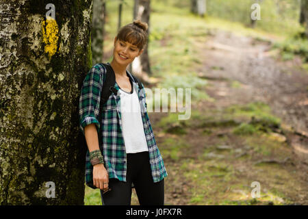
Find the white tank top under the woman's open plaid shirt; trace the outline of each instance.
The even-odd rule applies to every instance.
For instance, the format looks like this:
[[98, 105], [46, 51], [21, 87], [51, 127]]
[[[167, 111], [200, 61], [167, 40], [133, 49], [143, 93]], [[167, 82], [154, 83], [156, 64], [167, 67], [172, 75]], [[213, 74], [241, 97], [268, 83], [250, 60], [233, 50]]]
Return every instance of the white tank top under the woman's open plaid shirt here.
[[126, 153], [149, 151], [142, 123], [140, 103], [133, 86], [132, 93], [119, 89], [122, 132]]

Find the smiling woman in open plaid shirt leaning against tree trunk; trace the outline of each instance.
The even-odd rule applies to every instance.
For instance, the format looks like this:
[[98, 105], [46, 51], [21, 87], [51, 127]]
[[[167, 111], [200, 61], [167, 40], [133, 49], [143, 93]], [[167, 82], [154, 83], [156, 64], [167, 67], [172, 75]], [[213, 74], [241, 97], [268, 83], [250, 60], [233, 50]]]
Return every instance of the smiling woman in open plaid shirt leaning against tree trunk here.
[[[92, 168], [86, 170], [93, 185], [101, 189], [103, 205], [130, 205], [131, 186], [140, 205], [164, 205], [166, 168], [159, 153], [146, 112], [144, 86], [126, 70], [142, 54], [148, 25], [134, 21], [122, 27], [114, 38], [112, 62], [118, 91], [103, 105], [99, 100], [106, 68], [96, 64], [84, 79], [79, 101], [81, 131], [88, 145]], [[99, 145], [98, 138], [101, 138]]]

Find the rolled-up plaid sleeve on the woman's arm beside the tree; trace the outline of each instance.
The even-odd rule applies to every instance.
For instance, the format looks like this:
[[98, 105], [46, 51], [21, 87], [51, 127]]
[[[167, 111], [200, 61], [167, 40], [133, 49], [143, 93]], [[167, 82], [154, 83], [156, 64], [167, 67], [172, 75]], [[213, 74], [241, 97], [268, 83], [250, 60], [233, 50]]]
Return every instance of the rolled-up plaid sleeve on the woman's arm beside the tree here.
[[93, 66], [84, 79], [79, 97], [79, 128], [84, 133], [84, 127], [94, 123], [97, 131], [99, 123], [99, 101], [101, 99], [101, 87], [103, 86], [102, 71], [97, 65]]

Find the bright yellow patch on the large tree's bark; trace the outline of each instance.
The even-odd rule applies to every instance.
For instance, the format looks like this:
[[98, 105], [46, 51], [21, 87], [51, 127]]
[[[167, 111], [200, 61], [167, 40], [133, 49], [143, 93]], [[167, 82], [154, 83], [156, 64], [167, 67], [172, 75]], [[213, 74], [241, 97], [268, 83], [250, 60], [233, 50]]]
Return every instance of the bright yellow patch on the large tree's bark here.
[[47, 16], [47, 20], [42, 22], [42, 37], [45, 44], [44, 52], [49, 54], [49, 60], [57, 51], [58, 31], [55, 19]]

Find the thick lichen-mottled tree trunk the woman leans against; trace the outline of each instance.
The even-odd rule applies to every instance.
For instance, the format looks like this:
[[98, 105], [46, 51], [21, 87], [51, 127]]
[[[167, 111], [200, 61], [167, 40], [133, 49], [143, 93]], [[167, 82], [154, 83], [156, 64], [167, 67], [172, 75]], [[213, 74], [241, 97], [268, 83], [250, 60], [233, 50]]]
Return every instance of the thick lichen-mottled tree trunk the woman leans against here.
[[0, 0], [0, 205], [84, 204], [92, 0], [52, 1], [55, 13], [43, 2]]

